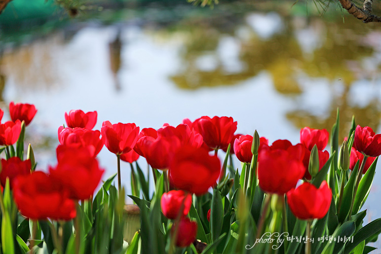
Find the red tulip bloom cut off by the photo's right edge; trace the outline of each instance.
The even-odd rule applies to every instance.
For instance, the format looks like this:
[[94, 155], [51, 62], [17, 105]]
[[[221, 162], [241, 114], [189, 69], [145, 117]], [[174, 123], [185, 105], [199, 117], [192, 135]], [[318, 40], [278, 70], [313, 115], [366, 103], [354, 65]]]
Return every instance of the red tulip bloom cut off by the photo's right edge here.
[[371, 127], [357, 125], [353, 144], [357, 151], [367, 156], [377, 157], [381, 154], [381, 134], [375, 135]]

